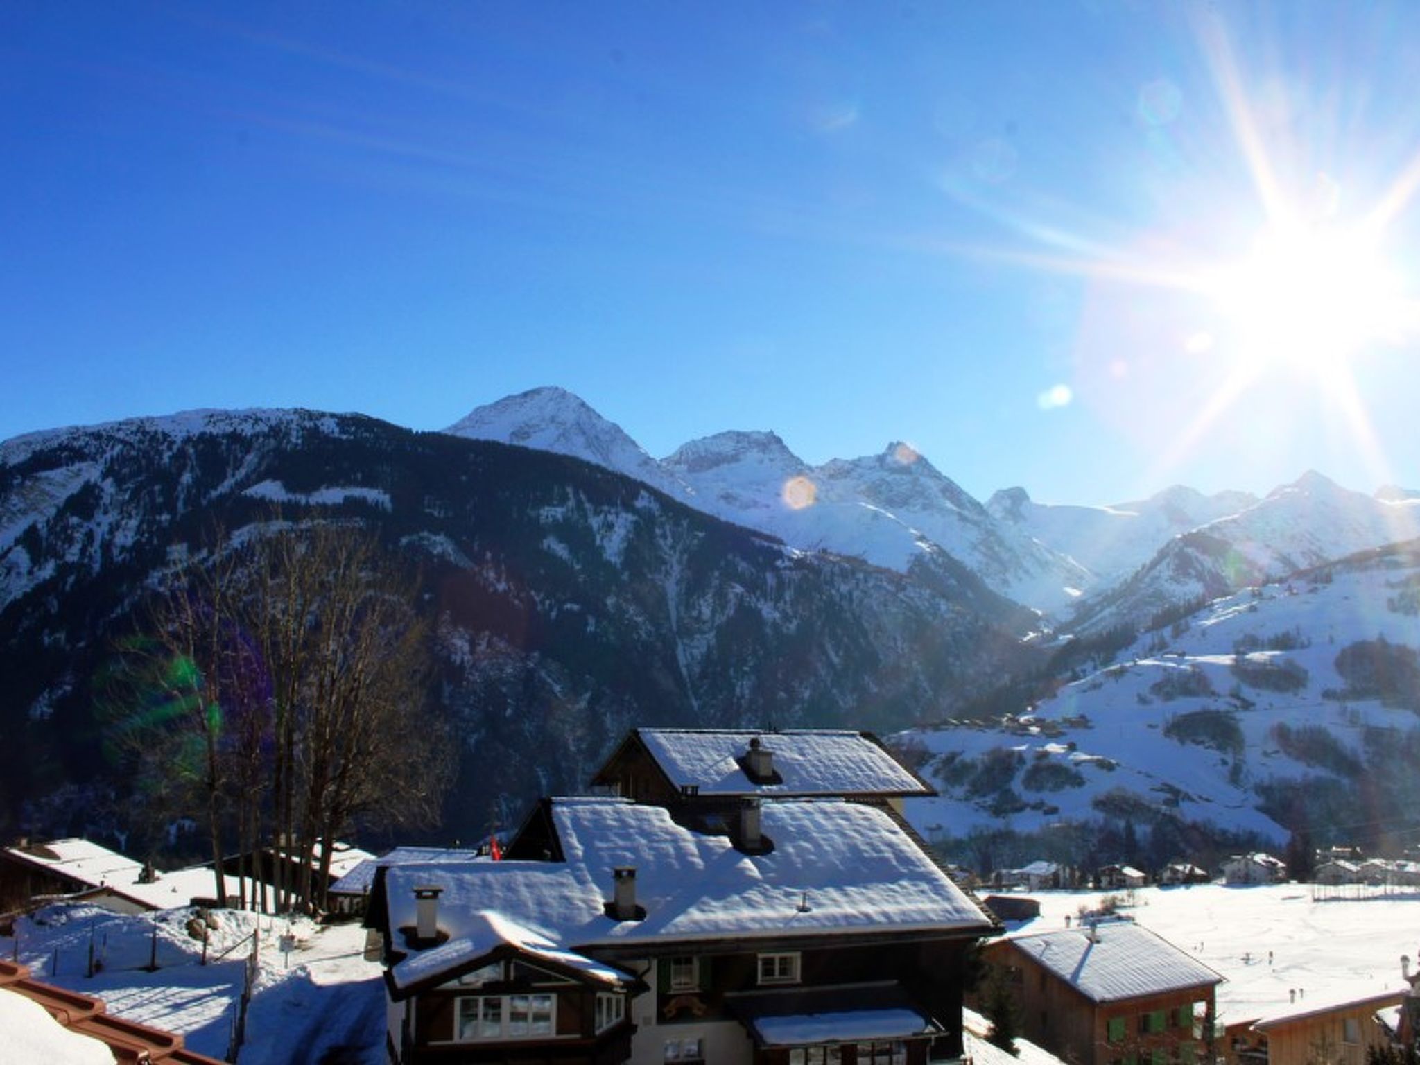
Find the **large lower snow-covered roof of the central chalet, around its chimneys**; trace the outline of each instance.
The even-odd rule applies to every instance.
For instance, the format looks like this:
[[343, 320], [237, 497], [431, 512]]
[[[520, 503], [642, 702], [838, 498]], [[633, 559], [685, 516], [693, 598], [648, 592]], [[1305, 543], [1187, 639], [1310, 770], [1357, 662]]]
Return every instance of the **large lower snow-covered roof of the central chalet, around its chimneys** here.
[[[772, 851], [747, 855], [652, 805], [559, 798], [551, 816], [565, 861], [392, 865], [390, 929], [416, 923], [413, 889], [437, 886], [439, 929], [474, 937], [498, 913], [561, 949], [845, 932], [985, 932], [990, 917], [885, 811], [842, 801], [771, 801]], [[608, 917], [611, 870], [636, 869], [643, 920]], [[408, 963], [402, 963], [408, 964]]]

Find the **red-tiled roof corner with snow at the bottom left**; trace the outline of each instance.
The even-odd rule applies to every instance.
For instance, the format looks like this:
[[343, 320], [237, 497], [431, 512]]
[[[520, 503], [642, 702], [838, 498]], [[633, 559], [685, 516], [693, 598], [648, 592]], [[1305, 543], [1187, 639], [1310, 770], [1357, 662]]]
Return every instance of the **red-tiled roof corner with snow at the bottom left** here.
[[219, 1065], [176, 1032], [114, 1017], [104, 1000], [40, 983], [7, 961], [0, 961], [0, 1061]]

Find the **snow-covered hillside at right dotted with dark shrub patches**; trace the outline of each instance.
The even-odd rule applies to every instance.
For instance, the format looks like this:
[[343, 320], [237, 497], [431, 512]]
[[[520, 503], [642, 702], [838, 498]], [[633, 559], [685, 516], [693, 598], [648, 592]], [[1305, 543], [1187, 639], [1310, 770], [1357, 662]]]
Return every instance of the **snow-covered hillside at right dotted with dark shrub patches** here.
[[1021, 720], [906, 734], [941, 791], [907, 815], [929, 838], [1093, 819], [1321, 835], [1363, 809], [1363, 777], [1384, 799], [1376, 774], [1420, 738], [1417, 589], [1420, 551], [1372, 552], [1146, 632]]

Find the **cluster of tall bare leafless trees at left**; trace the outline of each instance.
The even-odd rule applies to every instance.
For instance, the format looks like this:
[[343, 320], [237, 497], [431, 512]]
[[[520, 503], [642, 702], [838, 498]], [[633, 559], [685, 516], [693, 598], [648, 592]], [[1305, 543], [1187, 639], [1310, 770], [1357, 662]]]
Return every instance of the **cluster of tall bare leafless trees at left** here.
[[[321, 909], [329, 843], [437, 819], [452, 753], [426, 700], [416, 596], [372, 532], [271, 521], [179, 562], [119, 645], [101, 679], [105, 743], [152, 824], [202, 825], [223, 905]], [[285, 861], [267, 870], [274, 897], [253, 899], [263, 848]]]

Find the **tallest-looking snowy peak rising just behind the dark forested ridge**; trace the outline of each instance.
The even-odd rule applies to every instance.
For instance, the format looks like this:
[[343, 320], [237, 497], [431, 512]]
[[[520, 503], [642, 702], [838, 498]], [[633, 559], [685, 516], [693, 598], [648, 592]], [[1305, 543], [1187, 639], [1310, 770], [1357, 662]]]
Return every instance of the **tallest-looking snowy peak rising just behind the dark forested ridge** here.
[[667, 474], [619, 425], [602, 417], [565, 388], [550, 385], [506, 396], [476, 408], [444, 432], [569, 454], [625, 473], [672, 496], [689, 494], [686, 486]]

